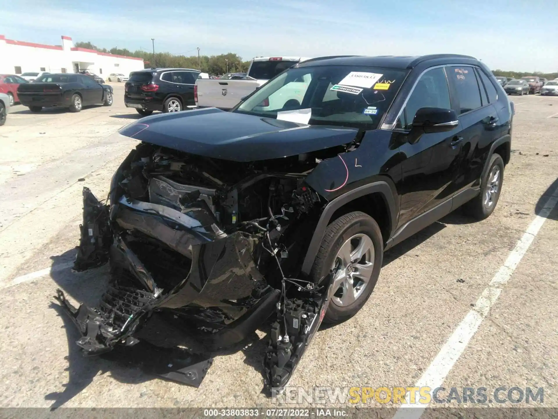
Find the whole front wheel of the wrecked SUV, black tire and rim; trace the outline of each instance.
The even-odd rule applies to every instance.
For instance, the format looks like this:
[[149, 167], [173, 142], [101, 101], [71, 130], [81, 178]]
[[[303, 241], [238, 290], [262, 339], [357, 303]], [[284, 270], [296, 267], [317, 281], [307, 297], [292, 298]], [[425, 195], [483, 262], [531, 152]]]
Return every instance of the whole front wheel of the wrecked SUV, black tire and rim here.
[[[364, 245], [364, 249], [369, 246], [370, 250], [363, 252], [363, 258], [355, 261], [355, 252], [361, 245]], [[347, 251], [343, 252], [342, 248]], [[343, 253], [348, 257], [343, 258]], [[348, 261], [349, 258], [353, 260]], [[325, 313], [324, 322], [343, 322], [364, 306], [376, 286], [382, 260], [382, 232], [372, 217], [354, 211], [329, 224], [310, 273], [316, 283], [328, 275], [331, 269], [337, 273], [334, 277], [334, 281], [338, 283], [334, 288], [337, 289], [333, 290], [334, 295]], [[364, 273], [364, 276], [360, 277], [359, 272]], [[370, 277], [365, 279], [368, 273]], [[353, 293], [349, 294], [348, 289]]]

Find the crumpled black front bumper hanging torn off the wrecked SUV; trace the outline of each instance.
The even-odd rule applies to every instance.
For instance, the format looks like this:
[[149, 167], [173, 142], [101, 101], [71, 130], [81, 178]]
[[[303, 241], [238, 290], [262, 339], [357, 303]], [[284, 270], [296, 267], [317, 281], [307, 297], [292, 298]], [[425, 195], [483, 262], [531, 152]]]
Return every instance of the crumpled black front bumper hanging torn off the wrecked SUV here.
[[[268, 285], [256, 267], [253, 254], [258, 237], [241, 231], [225, 234], [204, 208], [182, 213], [124, 197], [109, 207], [88, 188], [83, 203], [74, 270], [110, 262], [111, 282], [97, 307], [76, 308], [61, 290], [55, 298], [78, 327], [81, 337], [76, 344], [85, 355], [130, 351], [157, 375], [199, 385], [211, 365], [212, 351], [237, 344], [277, 315], [264, 369], [270, 391], [286, 385], [323, 320], [331, 290], [309, 290], [304, 293], [307, 298], [288, 299], [284, 287], [280, 291]], [[181, 264], [190, 261], [189, 269], [180, 264], [168, 269], [165, 260], [138, 246], [130, 231], [160, 242], [164, 254], [172, 254]], [[161, 273], [156, 269], [160, 266], [167, 270]], [[184, 277], [175, 272], [184, 272]], [[178, 279], [169, 282], [171, 274]], [[324, 281], [326, 289], [330, 282]], [[134, 333], [155, 311], [181, 318], [185, 327], [202, 325], [199, 329], [204, 332], [193, 334], [204, 350], [196, 354], [162, 349], [138, 340]], [[278, 322], [294, 340], [280, 336]]]

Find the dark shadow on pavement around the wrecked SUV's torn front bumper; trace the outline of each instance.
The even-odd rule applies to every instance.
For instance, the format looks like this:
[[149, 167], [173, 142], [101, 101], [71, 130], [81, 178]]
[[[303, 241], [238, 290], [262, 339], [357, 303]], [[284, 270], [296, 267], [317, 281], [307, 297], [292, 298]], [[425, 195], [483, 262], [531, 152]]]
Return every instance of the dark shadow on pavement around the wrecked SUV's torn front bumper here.
[[[58, 256], [52, 256], [51, 277], [58, 287], [64, 291], [66, 296], [74, 300], [73, 303], [76, 306], [85, 303], [90, 307], [95, 307], [107, 288], [110, 277], [109, 266], [107, 264], [85, 272], [73, 273], [71, 268], [68, 268], [68, 264], [74, 258], [75, 249], [68, 250]], [[56, 288], [53, 287], [53, 296], [55, 292]], [[128, 350], [134, 346], [131, 348], [122, 347], [120, 351], [112, 351], [100, 356], [85, 357], [81, 348], [75, 343], [81, 335], [68, 313], [65, 312], [60, 304], [54, 301], [54, 298], [50, 308], [58, 313], [61, 325], [66, 330], [68, 356], [65, 359], [68, 360], [66, 371], [68, 371], [69, 376], [68, 383], [64, 385], [64, 391], [46, 394], [45, 400], [52, 401], [51, 410], [63, 406], [83, 391], [93, 382], [97, 375], [110, 373], [110, 377], [126, 384], [140, 384], [152, 379], [164, 379], [158, 375], [146, 372], [145, 369], [140, 368], [139, 364], [134, 364], [135, 356], [127, 356], [127, 354], [131, 354]], [[266, 333], [269, 332], [267, 329], [267, 325], [262, 327], [262, 331]], [[147, 342], [147, 345], [152, 344], [173, 349], [176, 349], [177, 346], [182, 346], [188, 348], [193, 353], [200, 353], [203, 350], [188, 334], [187, 328], [176, 327], [176, 322], [168, 321], [161, 313], [153, 313], [145, 326], [134, 336], [140, 339], [141, 342]], [[267, 346], [267, 339], [267, 336], [260, 339], [256, 332], [254, 332], [237, 345], [211, 353], [203, 353], [202, 355], [203, 358], [208, 359], [209, 357], [226, 356], [242, 351], [244, 354], [244, 364], [254, 368], [262, 374], [263, 378], [263, 356]], [[138, 345], [141, 345], [141, 342]], [[137, 355], [137, 351], [135, 355]], [[133, 358], [133, 361], [131, 358]], [[149, 365], [145, 366], [148, 367]], [[177, 385], [179, 384], [177, 383]]]

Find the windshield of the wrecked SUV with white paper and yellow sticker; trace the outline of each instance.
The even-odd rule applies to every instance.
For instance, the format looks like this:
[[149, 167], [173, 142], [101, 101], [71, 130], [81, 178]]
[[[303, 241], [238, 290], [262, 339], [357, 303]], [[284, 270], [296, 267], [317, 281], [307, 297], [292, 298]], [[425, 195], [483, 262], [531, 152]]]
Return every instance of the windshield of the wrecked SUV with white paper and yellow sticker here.
[[233, 112], [371, 130], [405, 77], [405, 70], [368, 66], [294, 68], [264, 84]]

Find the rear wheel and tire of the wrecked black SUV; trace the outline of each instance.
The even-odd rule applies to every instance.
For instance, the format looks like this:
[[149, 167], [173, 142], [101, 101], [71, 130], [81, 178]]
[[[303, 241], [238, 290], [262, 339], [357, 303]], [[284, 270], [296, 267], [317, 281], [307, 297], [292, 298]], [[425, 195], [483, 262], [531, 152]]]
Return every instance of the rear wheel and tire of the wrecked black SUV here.
[[464, 213], [477, 220], [488, 218], [498, 204], [503, 180], [504, 160], [499, 154], [494, 153], [490, 157], [487, 173], [480, 179], [480, 193], [463, 205]]

